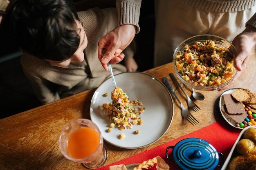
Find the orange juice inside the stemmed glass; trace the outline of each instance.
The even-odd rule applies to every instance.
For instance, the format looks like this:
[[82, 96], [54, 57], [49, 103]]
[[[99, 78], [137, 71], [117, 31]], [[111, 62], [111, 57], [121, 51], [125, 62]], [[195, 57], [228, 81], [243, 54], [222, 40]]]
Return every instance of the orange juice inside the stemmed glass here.
[[92, 128], [83, 127], [74, 131], [67, 142], [67, 150], [75, 159], [90, 156], [98, 147], [99, 134]]

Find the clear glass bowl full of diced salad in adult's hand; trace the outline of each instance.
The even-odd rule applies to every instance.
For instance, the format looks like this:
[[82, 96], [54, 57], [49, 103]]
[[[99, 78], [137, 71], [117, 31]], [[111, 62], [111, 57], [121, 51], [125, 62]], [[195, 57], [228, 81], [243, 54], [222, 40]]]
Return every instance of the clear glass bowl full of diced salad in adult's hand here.
[[[215, 47], [213, 48], [212, 42], [209, 42], [209, 47], [198, 45], [200, 53], [198, 53], [198, 50], [192, 50], [188, 53], [186, 45], [193, 46], [195, 42], [205, 42], [206, 40], [212, 40], [215, 43]], [[222, 48], [216, 47], [216, 44], [222, 46]], [[207, 48], [208, 51], [201, 50]], [[216, 53], [213, 53], [213, 50]], [[185, 53], [187, 54], [185, 55]], [[200, 57], [199, 54], [201, 53], [204, 53], [204, 55]], [[209, 55], [206, 56], [207, 54]], [[229, 55], [229, 57], [222, 57], [222, 55]], [[208, 34], [196, 35], [184, 40], [175, 49], [173, 53], [173, 66], [175, 74], [186, 86], [196, 90], [214, 91], [227, 86], [236, 76], [238, 71], [233, 65], [234, 56], [236, 56], [236, 47], [225, 38]]]

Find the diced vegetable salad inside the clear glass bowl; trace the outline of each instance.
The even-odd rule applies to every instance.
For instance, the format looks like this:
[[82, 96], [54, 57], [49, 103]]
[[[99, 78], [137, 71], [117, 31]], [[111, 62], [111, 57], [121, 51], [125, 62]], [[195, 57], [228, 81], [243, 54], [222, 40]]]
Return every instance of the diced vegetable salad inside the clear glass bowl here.
[[175, 66], [186, 81], [198, 86], [216, 86], [234, 76], [234, 56], [213, 40], [185, 45], [176, 54]]

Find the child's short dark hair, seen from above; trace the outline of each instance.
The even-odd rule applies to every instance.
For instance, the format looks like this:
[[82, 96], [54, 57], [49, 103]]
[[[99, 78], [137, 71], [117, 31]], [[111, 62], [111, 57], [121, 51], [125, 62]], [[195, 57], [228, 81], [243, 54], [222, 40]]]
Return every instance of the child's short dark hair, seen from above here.
[[63, 61], [79, 47], [72, 0], [18, 0], [13, 8], [12, 34], [27, 53], [41, 59]]

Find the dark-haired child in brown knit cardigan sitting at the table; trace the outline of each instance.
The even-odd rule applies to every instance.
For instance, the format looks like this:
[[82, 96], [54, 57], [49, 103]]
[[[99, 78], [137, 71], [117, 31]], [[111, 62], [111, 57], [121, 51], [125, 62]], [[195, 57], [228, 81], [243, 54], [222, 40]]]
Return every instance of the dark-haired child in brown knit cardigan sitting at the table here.
[[[24, 51], [23, 71], [42, 104], [95, 88], [110, 77], [98, 60], [98, 43], [118, 26], [117, 9], [76, 12], [72, 0], [18, 0], [9, 23]], [[134, 51], [126, 50], [126, 58], [132, 58]], [[121, 64], [112, 68], [114, 74], [127, 71]]]

